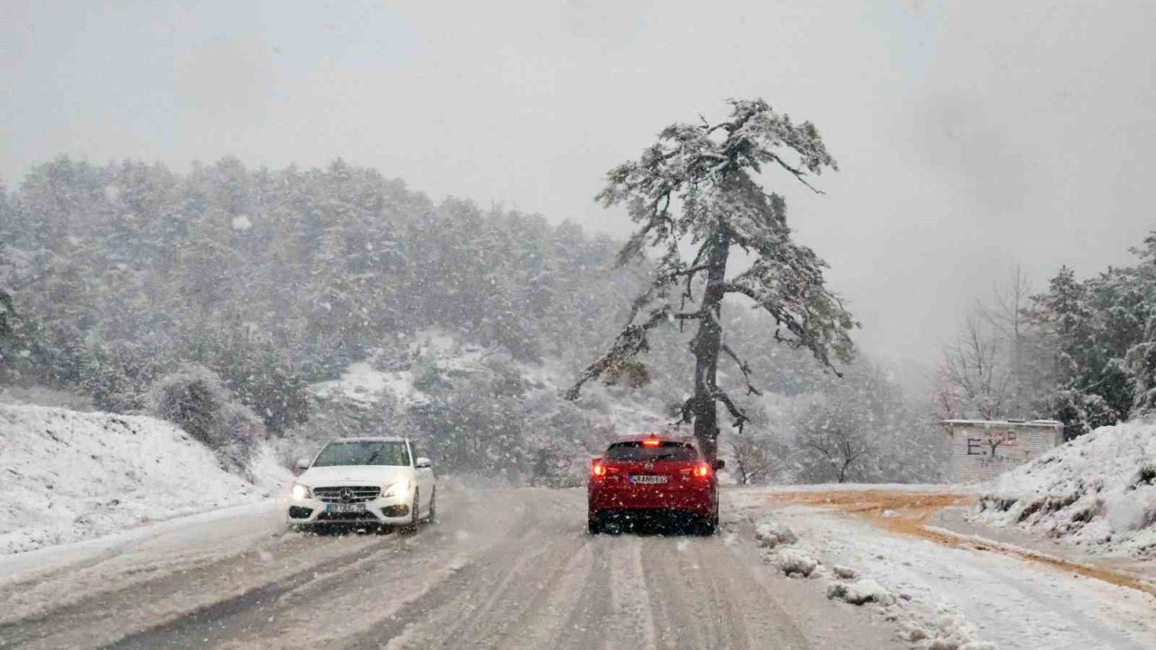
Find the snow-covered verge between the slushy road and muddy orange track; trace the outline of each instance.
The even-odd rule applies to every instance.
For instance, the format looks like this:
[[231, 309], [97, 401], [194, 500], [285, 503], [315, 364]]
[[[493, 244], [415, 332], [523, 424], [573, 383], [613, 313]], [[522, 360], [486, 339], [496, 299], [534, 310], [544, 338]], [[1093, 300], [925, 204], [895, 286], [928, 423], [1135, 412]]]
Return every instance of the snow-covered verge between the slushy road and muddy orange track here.
[[[1156, 648], [1156, 598], [1149, 593], [1013, 554], [903, 534], [896, 532], [902, 527], [855, 516], [854, 508], [803, 504], [784, 494], [729, 493], [738, 516], [753, 524], [765, 561], [824, 582], [835, 600], [866, 603], [916, 648]], [[815, 494], [821, 493], [809, 496]], [[884, 510], [882, 516], [899, 514]]]

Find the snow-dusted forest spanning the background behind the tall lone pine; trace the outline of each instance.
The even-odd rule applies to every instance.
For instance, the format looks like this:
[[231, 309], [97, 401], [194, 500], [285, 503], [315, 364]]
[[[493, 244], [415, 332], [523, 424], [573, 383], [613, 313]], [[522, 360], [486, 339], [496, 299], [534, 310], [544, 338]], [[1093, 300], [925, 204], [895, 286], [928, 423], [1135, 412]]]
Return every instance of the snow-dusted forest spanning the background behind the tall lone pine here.
[[[688, 391], [687, 333], [673, 323], [576, 402], [527, 378], [549, 368], [568, 384], [625, 322], [655, 266], [617, 266], [621, 242], [435, 202], [340, 160], [177, 172], [60, 157], [0, 187], [0, 242], [6, 390], [170, 419], [237, 468], [258, 438], [298, 449], [391, 430], [447, 471], [572, 482], [608, 436], [630, 433], [615, 407], [674, 422]], [[935, 481], [939, 418], [1051, 416], [1077, 435], [1144, 408], [1156, 238], [1136, 252], [1135, 266], [1085, 281], [1064, 269], [1044, 294], [999, 293], [928, 372], [928, 394], [905, 393], [865, 350], [839, 377], [777, 344], [765, 315], [728, 309], [727, 342], [763, 391], [743, 398], [750, 421], [726, 428], [720, 453], [744, 483]], [[408, 341], [430, 330], [484, 362], [461, 372], [415, 354]], [[412, 370], [430, 399], [366, 408], [311, 390], [363, 360]], [[735, 394], [744, 381], [720, 374]]]

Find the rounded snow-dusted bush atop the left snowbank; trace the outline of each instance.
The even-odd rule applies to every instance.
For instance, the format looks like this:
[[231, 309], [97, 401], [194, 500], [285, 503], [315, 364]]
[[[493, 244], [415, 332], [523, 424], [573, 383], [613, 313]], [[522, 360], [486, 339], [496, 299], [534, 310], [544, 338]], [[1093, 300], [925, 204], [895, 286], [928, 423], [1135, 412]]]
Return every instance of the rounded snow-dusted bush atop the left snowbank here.
[[260, 420], [235, 401], [212, 370], [190, 364], [165, 375], [153, 386], [149, 406], [154, 415], [215, 451], [225, 470], [247, 470]]

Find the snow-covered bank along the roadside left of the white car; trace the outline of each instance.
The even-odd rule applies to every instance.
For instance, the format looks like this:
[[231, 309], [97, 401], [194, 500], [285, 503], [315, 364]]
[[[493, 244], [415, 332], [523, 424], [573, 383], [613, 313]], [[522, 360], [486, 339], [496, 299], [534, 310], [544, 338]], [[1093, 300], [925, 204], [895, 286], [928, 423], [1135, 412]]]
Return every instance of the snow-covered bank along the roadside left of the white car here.
[[0, 554], [255, 502], [288, 472], [259, 449], [254, 482], [153, 418], [0, 405]]

